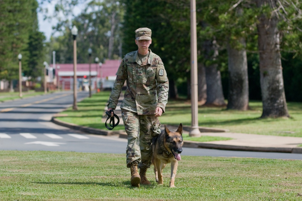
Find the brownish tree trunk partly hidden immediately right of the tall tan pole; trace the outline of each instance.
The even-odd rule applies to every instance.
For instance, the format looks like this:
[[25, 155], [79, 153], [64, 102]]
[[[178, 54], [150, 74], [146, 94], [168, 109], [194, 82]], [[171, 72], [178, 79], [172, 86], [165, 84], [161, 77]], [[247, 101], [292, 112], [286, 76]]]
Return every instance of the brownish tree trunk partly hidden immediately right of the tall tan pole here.
[[197, 64], [198, 80], [198, 103], [203, 105], [207, 101], [207, 81], [204, 64]]

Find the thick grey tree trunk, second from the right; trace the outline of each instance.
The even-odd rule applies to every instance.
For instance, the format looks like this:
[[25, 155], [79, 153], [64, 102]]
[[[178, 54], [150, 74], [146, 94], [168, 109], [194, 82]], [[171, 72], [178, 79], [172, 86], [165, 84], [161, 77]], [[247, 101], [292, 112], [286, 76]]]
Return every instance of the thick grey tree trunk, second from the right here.
[[[240, 39], [243, 47], [245, 40]], [[229, 68], [229, 93], [227, 109], [248, 110], [249, 107], [249, 81], [247, 72], [246, 50], [238, 50], [227, 45]]]

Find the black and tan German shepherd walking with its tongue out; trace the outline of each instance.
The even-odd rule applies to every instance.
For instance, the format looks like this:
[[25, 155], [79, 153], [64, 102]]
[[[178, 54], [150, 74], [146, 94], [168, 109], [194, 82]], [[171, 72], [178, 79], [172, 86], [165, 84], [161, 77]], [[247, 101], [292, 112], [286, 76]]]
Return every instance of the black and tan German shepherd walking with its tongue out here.
[[165, 130], [157, 137], [153, 137], [151, 162], [154, 166], [155, 180], [158, 184], [163, 184], [162, 169], [168, 163], [171, 163], [170, 187], [175, 187], [175, 175], [178, 161], [181, 160], [180, 153], [182, 153], [183, 144], [182, 124], [179, 125], [175, 132], [170, 131], [165, 125]]

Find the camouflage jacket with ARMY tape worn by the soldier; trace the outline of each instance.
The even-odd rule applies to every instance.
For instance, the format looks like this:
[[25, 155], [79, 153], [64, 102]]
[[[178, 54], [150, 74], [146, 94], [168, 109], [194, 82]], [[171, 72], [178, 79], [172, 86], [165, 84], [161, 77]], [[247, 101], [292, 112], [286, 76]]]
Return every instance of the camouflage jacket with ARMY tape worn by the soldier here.
[[116, 73], [116, 80], [109, 98], [108, 108], [115, 109], [121, 89], [127, 80], [127, 88], [120, 108], [137, 114], [155, 114], [156, 107], [165, 112], [169, 83], [162, 60], [149, 49], [144, 63], [138, 51], [125, 55]]

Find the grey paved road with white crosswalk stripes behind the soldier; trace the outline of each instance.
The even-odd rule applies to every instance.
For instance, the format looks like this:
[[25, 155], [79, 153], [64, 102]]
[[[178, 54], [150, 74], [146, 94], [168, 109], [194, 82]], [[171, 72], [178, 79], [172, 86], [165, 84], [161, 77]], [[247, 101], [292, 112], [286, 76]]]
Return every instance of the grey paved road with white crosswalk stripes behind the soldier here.
[[[88, 92], [79, 92], [78, 101]], [[49, 150], [125, 153], [127, 140], [92, 135], [50, 122], [51, 117], [72, 105], [72, 92], [0, 103], [1, 150]], [[184, 148], [182, 155], [300, 159], [301, 154]]]

